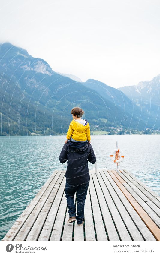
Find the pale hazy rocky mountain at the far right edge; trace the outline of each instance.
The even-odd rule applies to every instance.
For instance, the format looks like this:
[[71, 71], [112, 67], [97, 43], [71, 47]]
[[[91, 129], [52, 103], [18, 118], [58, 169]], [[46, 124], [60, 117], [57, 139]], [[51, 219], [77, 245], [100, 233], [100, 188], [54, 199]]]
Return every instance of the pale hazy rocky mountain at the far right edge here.
[[142, 81], [137, 85], [124, 86], [119, 90], [125, 93], [137, 106], [140, 106], [143, 112], [152, 116], [154, 119], [152, 127], [157, 127], [160, 119], [160, 74], [151, 81]]

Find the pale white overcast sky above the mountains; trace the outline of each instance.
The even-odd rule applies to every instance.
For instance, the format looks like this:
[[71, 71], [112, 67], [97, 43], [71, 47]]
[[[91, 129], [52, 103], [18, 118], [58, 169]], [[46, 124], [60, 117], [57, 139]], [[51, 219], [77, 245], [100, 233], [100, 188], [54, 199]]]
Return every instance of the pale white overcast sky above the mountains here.
[[0, 0], [0, 42], [113, 87], [160, 73], [159, 0]]

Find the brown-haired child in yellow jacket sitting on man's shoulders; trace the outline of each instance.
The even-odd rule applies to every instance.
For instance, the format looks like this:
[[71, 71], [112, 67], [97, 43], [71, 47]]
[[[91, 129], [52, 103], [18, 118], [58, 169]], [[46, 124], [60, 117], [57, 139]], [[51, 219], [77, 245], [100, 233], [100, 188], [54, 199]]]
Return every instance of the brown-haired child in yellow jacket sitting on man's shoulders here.
[[86, 142], [91, 143], [90, 139], [90, 126], [89, 122], [86, 119], [81, 119], [84, 111], [81, 108], [75, 107], [71, 110], [73, 120], [69, 125], [67, 132], [67, 139], [74, 142]]

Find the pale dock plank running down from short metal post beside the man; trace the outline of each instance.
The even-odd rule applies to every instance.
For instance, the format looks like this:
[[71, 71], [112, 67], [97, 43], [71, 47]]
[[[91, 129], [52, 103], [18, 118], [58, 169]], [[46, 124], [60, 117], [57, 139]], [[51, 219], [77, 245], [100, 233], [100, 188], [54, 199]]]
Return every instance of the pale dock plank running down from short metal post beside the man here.
[[[92, 177], [93, 177], [93, 181], [95, 183], [95, 188], [96, 188], [96, 191], [97, 191], [98, 200], [99, 200], [99, 203], [100, 203], [100, 206], [101, 206], [101, 211], [102, 211], [102, 214], [103, 214], [103, 218], [104, 218], [104, 222], [105, 222], [105, 225], [106, 225], [109, 240], [110, 241], [120, 241], [119, 236], [118, 236], [117, 231], [116, 231], [116, 228], [114, 226], [113, 220], [111, 218], [110, 212], [108, 210], [108, 206], [107, 206], [107, 203], [105, 201], [103, 192], [102, 192], [101, 187], [99, 185], [99, 182], [100, 182], [99, 181], [99, 175], [97, 176], [95, 174], [92, 174]], [[101, 182], [103, 182], [102, 179], [101, 179]], [[100, 184], [101, 184], [101, 182], [100, 182]]]

